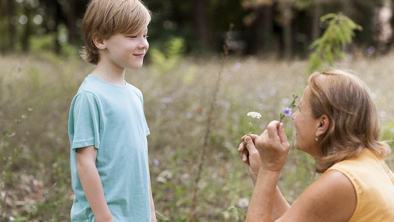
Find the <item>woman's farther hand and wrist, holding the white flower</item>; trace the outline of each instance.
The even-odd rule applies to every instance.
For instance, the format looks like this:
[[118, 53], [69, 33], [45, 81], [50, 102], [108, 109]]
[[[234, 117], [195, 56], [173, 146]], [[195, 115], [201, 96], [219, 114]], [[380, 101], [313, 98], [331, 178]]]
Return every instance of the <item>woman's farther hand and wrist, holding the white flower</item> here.
[[[257, 138], [259, 138], [259, 136], [255, 134], [251, 134], [249, 136], [245, 135], [241, 138], [243, 142], [238, 147], [238, 152], [242, 152], [242, 162], [246, 163], [248, 166], [248, 172], [252, 178], [253, 184], [256, 184], [257, 175], [259, 174], [261, 165], [259, 151], [257, 151], [254, 145], [254, 141], [256, 141]], [[244, 142], [246, 142], [246, 148], [244, 146]]]

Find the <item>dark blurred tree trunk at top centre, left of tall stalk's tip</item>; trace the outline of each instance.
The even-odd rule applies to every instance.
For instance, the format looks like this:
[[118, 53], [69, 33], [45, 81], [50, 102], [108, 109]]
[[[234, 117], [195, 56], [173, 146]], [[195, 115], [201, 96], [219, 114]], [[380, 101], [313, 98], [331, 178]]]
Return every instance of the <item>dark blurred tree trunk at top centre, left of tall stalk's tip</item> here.
[[197, 27], [197, 40], [202, 47], [208, 47], [208, 27], [207, 27], [207, 0], [194, 0], [194, 21]]

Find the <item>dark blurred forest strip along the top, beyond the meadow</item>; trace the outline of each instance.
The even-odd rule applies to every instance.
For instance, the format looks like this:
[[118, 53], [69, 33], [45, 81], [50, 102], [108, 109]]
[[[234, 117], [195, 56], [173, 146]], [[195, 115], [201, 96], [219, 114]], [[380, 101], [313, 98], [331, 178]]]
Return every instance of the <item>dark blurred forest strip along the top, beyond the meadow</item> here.
[[[143, 0], [153, 12], [149, 41], [153, 47], [182, 37], [186, 52], [219, 51], [229, 23], [235, 25], [237, 53], [306, 56], [307, 45], [321, 36], [322, 14], [342, 11], [364, 27], [355, 43], [383, 45], [392, 37], [394, 0]], [[29, 50], [31, 37], [52, 39], [61, 52], [81, 44], [80, 21], [88, 0], [0, 0], [0, 50]], [[385, 2], [385, 3], [384, 3]], [[383, 7], [383, 4], [389, 6]], [[382, 18], [385, 19], [382, 19]], [[382, 23], [382, 21], [385, 21]], [[384, 25], [383, 25], [384, 24]], [[386, 40], [382, 40], [385, 36]]]

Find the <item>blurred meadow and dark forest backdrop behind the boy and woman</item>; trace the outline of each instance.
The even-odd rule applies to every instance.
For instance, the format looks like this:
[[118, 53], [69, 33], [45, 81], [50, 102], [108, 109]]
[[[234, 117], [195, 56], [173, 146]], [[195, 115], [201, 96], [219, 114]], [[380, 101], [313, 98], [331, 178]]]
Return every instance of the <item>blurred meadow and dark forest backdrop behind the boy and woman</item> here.
[[[68, 111], [94, 68], [78, 57], [87, 2], [0, 0], [1, 222], [69, 221]], [[382, 140], [394, 148], [393, 0], [144, 3], [153, 13], [150, 49], [126, 80], [144, 95], [159, 221], [186, 222], [191, 212], [196, 222], [243, 221], [253, 191], [237, 153], [251, 121], [246, 114], [263, 115], [252, 121], [260, 134], [315, 70], [359, 75], [378, 106]], [[336, 19], [322, 20], [328, 13]], [[291, 119], [284, 123], [293, 141]], [[394, 154], [386, 161], [393, 169]], [[310, 156], [292, 148], [279, 181], [290, 203], [319, 176], [314, 169]]]

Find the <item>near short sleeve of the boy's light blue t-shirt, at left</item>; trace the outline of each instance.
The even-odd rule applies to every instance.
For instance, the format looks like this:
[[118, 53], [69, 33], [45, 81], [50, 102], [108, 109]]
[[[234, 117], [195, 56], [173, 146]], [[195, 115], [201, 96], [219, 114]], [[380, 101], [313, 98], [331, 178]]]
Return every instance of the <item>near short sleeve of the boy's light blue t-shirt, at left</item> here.
[[99, 148], [99, 103], [97, 97], [91, 92], [82, 91], [77, 94], [74, 100], [71, 148], [88, 146]]

